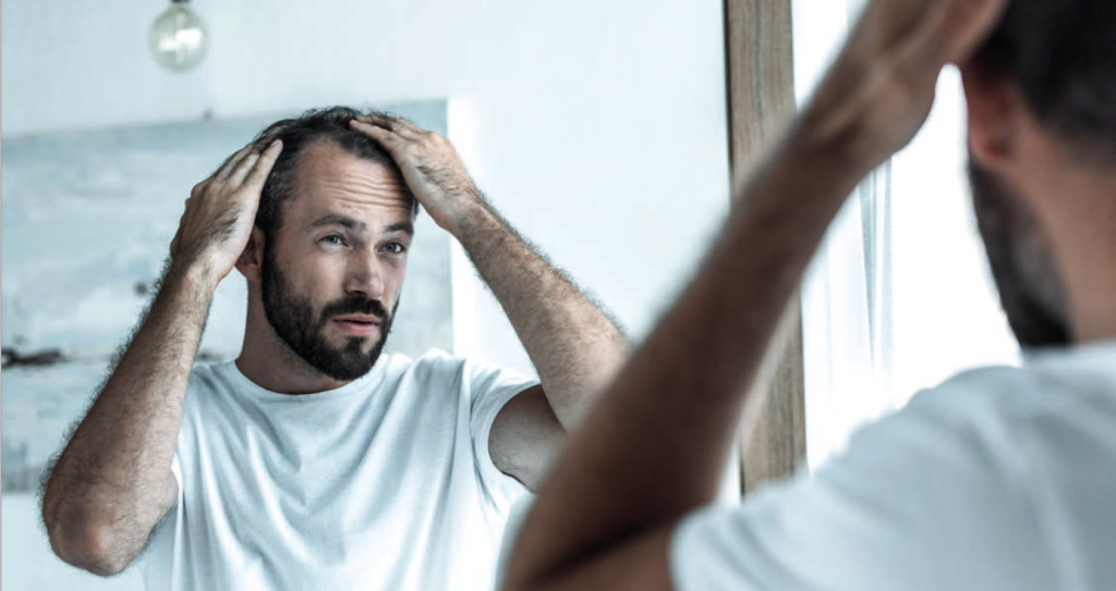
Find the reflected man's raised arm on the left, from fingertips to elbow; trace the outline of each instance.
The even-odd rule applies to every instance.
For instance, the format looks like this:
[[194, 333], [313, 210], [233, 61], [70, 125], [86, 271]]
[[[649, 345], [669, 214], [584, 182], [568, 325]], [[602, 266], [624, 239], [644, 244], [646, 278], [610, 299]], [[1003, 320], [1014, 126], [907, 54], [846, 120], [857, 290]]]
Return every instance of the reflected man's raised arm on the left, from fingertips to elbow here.
[[171, 472], [190, 368], [218, 283], [248, 242], [281, 145], [246, 147], [194, 187], [157, 294], [47, 482], [42, 520], [66, 562], [124, 570], [174, 506]]

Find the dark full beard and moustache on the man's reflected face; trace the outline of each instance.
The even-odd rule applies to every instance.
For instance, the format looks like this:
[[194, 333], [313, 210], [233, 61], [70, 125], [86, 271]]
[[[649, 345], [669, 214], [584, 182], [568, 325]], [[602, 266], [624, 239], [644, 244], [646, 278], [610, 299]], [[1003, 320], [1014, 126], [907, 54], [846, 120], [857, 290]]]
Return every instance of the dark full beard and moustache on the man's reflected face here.
[[[327, 303], [315, 314], [309, 298], [296, 293], [287, 275], [279, 269], [270, 243], [263, 249], [263, 277], [260, 291], [263, 313], [279, 338], [296, 355], [321, 374], [339, 381], [352, 381], [372, 370], [379, 359], [392, 330], [392, 320], [398, 309], [398, 299], [388, 313], [379, 300], [346, 298]], [[379, 340], [371, 350], [363, 348], [367, 339], [348, 337], [344, 347], [334, 347], [326, 340], [325, 328], [340, 314], [372, 314], [379, 319]]]

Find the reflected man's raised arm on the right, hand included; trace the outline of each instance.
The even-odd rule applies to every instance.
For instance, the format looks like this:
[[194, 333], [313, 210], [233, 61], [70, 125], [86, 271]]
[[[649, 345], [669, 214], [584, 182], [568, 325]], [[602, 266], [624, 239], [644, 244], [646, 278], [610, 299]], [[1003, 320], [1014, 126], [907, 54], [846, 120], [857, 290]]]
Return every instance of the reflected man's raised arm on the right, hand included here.
[[398, 119], [362, 117], [354, 127], [392, 153], [419, 202], [458, 239], [535, 364], [541, 387], [504, 406], [490, 449], [497, 467], [536, 488], [626, 357], [624, 333], [489, 205], [448, 139]]

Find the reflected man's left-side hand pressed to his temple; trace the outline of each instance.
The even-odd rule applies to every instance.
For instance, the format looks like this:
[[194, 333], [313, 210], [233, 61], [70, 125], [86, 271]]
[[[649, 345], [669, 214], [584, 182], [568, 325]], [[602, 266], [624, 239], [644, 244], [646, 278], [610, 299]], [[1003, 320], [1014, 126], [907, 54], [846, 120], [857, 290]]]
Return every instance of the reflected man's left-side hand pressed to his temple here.
[[194, 267], [214, 288], [232, 271], [248, 244], [263, 183], [282, 151], [278, 139], [262, 154], [252, 146], [234, 153], [194, 186], [171, 242], [174, 264]]

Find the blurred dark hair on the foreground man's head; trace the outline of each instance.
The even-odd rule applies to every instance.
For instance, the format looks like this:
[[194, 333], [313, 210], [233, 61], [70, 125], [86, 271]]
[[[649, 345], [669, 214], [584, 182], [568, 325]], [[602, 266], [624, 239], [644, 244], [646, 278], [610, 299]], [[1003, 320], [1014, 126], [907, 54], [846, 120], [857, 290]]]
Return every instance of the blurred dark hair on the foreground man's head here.
[[1070, 145], [1116, 157], [1116, 2], [1011, 0], [975, 59]]

